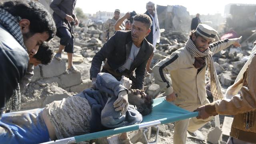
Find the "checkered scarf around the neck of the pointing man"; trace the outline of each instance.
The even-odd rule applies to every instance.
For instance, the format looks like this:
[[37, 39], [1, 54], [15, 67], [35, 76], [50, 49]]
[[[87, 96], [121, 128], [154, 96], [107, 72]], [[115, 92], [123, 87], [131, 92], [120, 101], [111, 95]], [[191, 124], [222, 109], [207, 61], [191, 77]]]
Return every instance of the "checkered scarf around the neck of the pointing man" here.
[[217, 72], [214, 67], [214, 62], [212, 59], [212, 52], [208, 48], [206, 51], [201, 52], [198, 50], [194, 44], [194, 42], [189, 38], [186, 42], [185, 48], [188, 50], [188, 52], [194, 56], [195, 58], [200, 58], [206, 56], [207, 59], [207, 65], [210, 70], [210, 82], [211, 82], [211, 92], [214, 100], [218, 100], [220, 98], [223, 98], [223, 94], [221, 92], [220, 88], [220, 82], [218, 80]]

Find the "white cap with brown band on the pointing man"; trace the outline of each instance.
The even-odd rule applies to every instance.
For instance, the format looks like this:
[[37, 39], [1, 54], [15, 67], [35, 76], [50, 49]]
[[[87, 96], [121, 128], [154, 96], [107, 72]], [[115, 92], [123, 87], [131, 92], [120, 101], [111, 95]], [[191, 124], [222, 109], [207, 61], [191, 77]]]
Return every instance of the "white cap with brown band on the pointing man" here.
[[214, 40], [218, 32], [207, 24], [198, 24], [196, 28], [196, 33], [209, 40]]

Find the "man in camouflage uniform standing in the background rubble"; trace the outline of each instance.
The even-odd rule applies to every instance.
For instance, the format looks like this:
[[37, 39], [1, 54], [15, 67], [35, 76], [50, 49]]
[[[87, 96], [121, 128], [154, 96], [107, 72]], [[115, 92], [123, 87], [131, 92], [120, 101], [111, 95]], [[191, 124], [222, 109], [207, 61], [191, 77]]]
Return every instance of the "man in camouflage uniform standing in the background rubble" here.
[[104, 23], [103, 40], [107, 41], [111, 36], [113, 36], [115, 32], [115, 24], [119, 18], [120, 18], [120, 10], [116, 9], [114, 12], [114, 17], [112, 19], [108, 19]]

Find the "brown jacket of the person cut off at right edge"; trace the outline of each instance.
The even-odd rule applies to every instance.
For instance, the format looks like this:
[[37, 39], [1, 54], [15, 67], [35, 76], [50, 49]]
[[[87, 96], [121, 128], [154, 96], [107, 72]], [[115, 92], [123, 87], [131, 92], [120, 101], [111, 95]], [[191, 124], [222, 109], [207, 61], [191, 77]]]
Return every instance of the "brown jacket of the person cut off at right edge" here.
[[256, 143], [256, 56], [244, 73], [241, 94], [231, 99], [217, 100], [206, 104], [210, 115], [235, 115], [230, 136], [246, 142]]

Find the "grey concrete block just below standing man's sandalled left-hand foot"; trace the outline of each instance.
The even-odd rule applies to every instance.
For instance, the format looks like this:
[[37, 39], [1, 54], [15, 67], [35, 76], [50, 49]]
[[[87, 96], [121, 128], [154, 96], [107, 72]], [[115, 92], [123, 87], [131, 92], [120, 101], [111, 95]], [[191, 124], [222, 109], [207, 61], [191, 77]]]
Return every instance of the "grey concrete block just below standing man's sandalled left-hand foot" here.
[[59, 76], [66, 72], [66, 62], [59, 61], [54, 58], [50, 64], [42, 65], [41, 72], [43, 78]]

